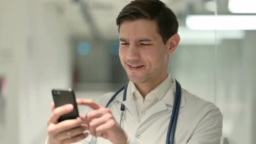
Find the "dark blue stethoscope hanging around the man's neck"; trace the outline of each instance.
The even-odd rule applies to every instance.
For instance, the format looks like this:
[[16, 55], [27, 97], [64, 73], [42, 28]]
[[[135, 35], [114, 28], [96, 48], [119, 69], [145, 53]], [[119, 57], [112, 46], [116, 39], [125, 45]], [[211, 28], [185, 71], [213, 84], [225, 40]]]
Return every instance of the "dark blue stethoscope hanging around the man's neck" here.
[[[174, 135], [175, 135], [177, 119], [178, 119], [178, 113], [179, 113], [180, 103], [181, 103], [181, 85], [180, 85], [180, 83], [176, 79], [175, 79], [175, 82], [176, 82], [176, 94], [175, 94], [175, 98], [174, 98], [174, 106], [173, 106], [173, 110], [172, 110], [172, 114], [171, 114], [171, 120], [170, 120], [168, 131], [167, 131], [166, 144], [174, 144]], [[108, 105], [115, 99], [115, 97], [122, 90], [124, 90], [123, 101], [125, 101], [126, 100], [127, 87], [128, 87], [128, 84], [126, 84], [122, 88], [120, 88], [115, 93], [115, 95], [113, 95], [112, 98], [110, 98], [110, 100], [108, 101], [108, 103], [105, 106], [105, 108], [108, 108]], [[121, 126], [122, 118], [124, 116], [124, 111], [125, 111], [125, 105], [123, 103], [121, 104], [120, 110], [121, 110], [121, 117], [120, 117], [119, 124]], [[170, 140], [170, 137], [171, 137], [171, 140]], [[90, 139], [89, 144], [91, 143], [92, 138]]]

